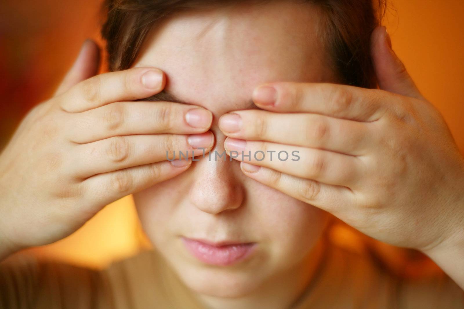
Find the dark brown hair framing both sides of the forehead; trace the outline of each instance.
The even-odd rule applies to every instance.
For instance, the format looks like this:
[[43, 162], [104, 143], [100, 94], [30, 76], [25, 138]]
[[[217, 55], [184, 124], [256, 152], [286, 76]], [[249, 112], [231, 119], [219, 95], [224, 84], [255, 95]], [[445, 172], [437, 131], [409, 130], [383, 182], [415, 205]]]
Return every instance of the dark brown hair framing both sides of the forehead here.
[[[255, 1], [255, 2], [265, 2]], [[171, 13], [250, 2], [245, 0], [105, 0], [102, 27], [111, 71], [129, 69], [148, 32]], [[385, 12], [385, 0], [300, 0], [323, 12], [320, 35], [341, 83], [375, 88], [370, 36]]]

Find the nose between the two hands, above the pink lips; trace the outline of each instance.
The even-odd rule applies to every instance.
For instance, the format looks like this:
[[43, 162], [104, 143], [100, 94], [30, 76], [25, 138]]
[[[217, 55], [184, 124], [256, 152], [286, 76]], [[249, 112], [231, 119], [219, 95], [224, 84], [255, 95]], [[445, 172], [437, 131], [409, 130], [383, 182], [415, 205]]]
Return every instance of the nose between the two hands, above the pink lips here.
[[[201, 211], [208, 214], [219, 214], [233, 210], [243, 203], [244, 188], [239, 180], [241, 171], [238, 162], [230, 160], [224, 150], [226, 137], [212, 129], [216, 144], [210, 151], [210, 156], [199, 157], [193, 162], [194, 183], [190, 187], [190, 202]], [[219, 157], [222, 156], [222, 157]], [[210, 157], [210, 158], [209, 158]]]

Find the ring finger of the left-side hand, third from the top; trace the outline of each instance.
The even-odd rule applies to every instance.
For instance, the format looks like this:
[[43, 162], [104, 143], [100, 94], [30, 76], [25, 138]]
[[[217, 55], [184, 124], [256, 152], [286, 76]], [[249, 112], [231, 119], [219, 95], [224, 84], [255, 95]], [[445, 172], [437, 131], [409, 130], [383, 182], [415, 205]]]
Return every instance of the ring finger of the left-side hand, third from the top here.
[[[122, 170], [174, 158], [191, 158], [211, 150], [212, 132], [196, 135], [130, 135], [116, 136], [97, 142], [77, 145], [72, 160], [73, 175], [88, 178], [96, 174]], [[204, 148], [204, 150], [199, 150]]]

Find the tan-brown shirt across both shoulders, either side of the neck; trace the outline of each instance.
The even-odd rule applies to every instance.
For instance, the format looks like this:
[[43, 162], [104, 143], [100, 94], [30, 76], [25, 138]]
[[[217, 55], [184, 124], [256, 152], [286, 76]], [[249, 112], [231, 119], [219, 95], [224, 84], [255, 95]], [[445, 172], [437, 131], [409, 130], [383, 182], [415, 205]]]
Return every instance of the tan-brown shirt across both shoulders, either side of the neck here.
[[[155, 251], [103, 271], [19, 255], [0, 264], [0, 308], [205, 309]], [[445, 274], [400, 279], [376, 259], [327, 246], [292, 309], [464, 309], [464, 292]]]

